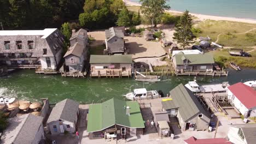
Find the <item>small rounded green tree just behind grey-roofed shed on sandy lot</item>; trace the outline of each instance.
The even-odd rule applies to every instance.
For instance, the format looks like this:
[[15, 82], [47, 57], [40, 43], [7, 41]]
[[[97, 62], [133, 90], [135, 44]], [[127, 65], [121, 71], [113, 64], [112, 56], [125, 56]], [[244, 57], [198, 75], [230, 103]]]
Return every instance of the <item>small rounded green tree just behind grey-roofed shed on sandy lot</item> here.
[[130, 13], [127, 8], [123, 8], [120, 11], [120, 14], [118, 15], [118, 26], [130, 26], [131, 25], [131, 19], [130, 19]]

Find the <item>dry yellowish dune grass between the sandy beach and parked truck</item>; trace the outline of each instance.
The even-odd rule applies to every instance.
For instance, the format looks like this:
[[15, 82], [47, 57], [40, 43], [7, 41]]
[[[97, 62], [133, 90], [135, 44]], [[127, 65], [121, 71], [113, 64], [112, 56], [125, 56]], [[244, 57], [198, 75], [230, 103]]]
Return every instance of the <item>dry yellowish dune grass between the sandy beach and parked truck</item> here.
[[[242, 22], [232, 22], [232, 21], [213, 21], [206, 20], [201, 21], [195, 25], [195, 27], [201, 29], [201, 33], [197, 34], [197, 37], [211, 37], [212, 41], [217, 40], [217, 36], [223, 33], [220, 36], [219, 43], [224, 44], [225, 46], [248, 46], [247, 41], [243, 43], [243, 37], [246, 34], [238, 34], [247, 32], [256, 27], [255, 24], [242, 23]], [[251, 32], [250, 32], [251, 33]], [[254, 33], [254, 32], [252, 32]], [[255, 35], [249, 35], [249, 39], [254, 41]], [[256, 39], [256, 38], [255, 38]], [[235, 42], [232, 42], [234, 41]], [[239, 45], [239, 43], [241, 43]]]

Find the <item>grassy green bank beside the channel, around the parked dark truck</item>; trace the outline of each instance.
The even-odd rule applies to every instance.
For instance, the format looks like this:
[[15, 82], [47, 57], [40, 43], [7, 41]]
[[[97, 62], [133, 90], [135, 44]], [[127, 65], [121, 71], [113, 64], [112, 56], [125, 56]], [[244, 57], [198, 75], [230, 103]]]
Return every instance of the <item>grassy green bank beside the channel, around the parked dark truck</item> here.
[[[252, 48], [246, 48], [247, 50], [252, 50]], [[234, 62], [240, 67], [256, 68], [256, 52], [250, 53], [252, 57], [234, 57], [229, 55], [229, 50], [216, 50], [213, 51], [214, 60], [217, 64], [224, 67], [229, 66], [230, 62]]]

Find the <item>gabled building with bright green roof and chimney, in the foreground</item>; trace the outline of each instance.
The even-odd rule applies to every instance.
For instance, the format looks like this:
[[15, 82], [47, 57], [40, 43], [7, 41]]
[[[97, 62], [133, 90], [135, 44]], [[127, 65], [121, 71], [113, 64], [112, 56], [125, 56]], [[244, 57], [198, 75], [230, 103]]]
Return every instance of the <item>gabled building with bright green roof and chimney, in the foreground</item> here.
[[89, 106], [89, 139], [143, 135], [144, 121], [137, 101], [110, 99]]

